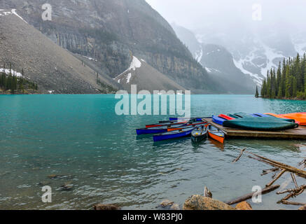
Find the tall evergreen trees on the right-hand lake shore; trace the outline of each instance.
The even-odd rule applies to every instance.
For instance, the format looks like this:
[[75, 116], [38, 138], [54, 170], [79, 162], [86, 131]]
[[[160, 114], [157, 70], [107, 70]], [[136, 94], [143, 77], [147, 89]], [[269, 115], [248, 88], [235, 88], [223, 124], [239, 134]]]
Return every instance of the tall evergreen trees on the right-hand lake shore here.
[[306, 55], [298, 54], [279, 62], [277, 69], [267, 71], [260, 95], [272, 99], [306, 99]]

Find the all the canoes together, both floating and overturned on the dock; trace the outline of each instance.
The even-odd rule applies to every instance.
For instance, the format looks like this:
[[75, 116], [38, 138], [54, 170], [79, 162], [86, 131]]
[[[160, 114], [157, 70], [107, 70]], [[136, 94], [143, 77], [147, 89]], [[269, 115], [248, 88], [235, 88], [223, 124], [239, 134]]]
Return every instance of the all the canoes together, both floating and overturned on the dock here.
[[[306, 113], [229, 113], [212, 116], [213, 123], [241, 130], [281, 131], [306, 126]], [[207, 123], [203, 118], [169, 118], [159, 123], [137, 129], [137, 135], [154, 134], [153, 141], [163, 141], [191, 136], [199, 142], [210, 137], [223, 144], [225, 134], [218, 125]]]

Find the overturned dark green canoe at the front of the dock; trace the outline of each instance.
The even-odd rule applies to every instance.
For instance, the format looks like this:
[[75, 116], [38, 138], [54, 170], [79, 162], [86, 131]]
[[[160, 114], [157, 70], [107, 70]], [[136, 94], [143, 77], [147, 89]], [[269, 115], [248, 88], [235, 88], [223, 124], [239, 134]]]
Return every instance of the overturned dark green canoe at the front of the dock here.
[[225, 120], [224, 127], [234, 127], [242, 130], [281, 131], [298, 127], [298, 124], [279, 118], [238, 118]]

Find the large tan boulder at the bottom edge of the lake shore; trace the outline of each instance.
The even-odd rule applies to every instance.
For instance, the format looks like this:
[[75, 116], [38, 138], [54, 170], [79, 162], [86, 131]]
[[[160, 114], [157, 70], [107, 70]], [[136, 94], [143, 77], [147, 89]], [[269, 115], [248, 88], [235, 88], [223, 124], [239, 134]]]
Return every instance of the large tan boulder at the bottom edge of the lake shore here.
[[209, 197], [193, 195], [188, 197], [183, 205], [183, 210], [235, 210], [235, 208]]

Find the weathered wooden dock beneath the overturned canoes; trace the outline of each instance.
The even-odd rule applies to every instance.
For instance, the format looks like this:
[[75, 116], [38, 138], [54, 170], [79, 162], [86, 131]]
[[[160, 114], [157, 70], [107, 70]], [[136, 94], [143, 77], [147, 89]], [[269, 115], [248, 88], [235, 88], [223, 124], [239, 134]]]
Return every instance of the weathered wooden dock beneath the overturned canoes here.
[[300, 126], [295, 129], [267, 132], [267, 131], [253, 131], [253, 130], [239, 130], [235, 128], [228, 128], [218, 125], [212, 121], [211, 118], [205, 118], [208, 123], [218, 127], [222, 130], [227, 138], [258, 138], [258, 139], [306, 139], [306, 127]]

